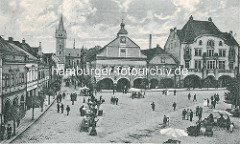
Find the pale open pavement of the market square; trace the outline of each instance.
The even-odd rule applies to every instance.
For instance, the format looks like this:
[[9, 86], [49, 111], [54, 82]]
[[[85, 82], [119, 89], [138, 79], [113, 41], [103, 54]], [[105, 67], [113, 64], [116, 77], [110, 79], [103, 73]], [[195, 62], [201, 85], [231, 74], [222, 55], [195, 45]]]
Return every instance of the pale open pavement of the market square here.
[[[68, 94], [74, 92], [73, 88], [64, 88]], [[56, 103], [40, 118], [30, 129], [24, 132], [14, 141], [14, 143], [51, 143], [51, 142], [163, 142], [169, 137], [159, 133], [159, 124], [162, 123], [163, 115], [170, 117], [172, 127], [179, 127], [186, 131], [193, 122], [182, 121], [181, 112], [183, 108], [191, 107], [195, 111], [196, 105], [202, 105], [204, 98], [209, 98], [216, 91], [191, 91], [191, 94], [197, 94], [197, 102], [187, 99], [188, 91], [177, 92], [177, 96], [162, 95], [161, 92], [147, 92], [143, 99], [131, 99], [131, 94], [117, 93], [115, 97], [119, 98], [118, 105], [110, 104], [111, 93], [98, 93], [106, 100], [102, 105], [104, 114], [99, 118], [96, 130], [96, 137], [90, 136], [87, 132], [80, 132], [80, 123], [82, 117], [79, 108], [83, 104], [82, 96], [78, 96], [77, 102], [71, 105], [70, 97], [67, 95], [63, 104], [71, 108], [70, 115], [57, 113]], [[221, 100], [224, 91], [218, 91]], [[155, 102], [156, 111], [152, 111], [151, 103]], [[172, 104], [177, 103], [177, 110], [174, 111]], [[218, 108], [218, 105], [217, 105]], [[204, 108], [204, 111], [209, 108]], [[194, 140], [195, 137], [187, 137]], [[205, 138], [205, 137], [204, 137]], [[185, 140], [186, 138], [180, 138]], [[189, 140], [186, 139], [186, 140]], [[216, 139], [216, 138], [214, 138]], [[212, 139], [208, 139], [211, 141]]]

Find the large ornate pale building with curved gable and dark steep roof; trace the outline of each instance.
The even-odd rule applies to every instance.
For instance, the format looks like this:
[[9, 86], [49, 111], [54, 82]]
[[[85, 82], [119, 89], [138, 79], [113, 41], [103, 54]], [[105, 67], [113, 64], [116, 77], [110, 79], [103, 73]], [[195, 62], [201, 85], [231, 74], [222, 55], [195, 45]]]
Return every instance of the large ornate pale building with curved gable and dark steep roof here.
[[232, 31], [221, 32], [211, 18], [199, 21], [191, 16], [182, 29], [170, 30], [164, 49], [188, 69], [182, 80], [194, 75], [219, 80], [222, 86], [225, 78], [236, 75], [238, 47]]

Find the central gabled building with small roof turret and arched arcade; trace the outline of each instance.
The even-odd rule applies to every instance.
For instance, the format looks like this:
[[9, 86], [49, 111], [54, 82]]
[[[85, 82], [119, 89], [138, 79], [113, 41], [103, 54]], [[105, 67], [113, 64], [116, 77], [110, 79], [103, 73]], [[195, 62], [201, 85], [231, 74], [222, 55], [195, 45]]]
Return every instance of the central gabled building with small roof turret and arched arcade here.
[[143, 55], [140, 47], [128, 37], [125, 24], [122, 22], [120, 26], [117, 37], [101, 48], [96, 58], [87, 64], [87, 70], [101, 71], [92, 75], [97, 85], [103, 89], [115, 88], [121, 91], [124, 87], [137, 87], [139, 81], [147, 78], [143, 73], [147, 56]]

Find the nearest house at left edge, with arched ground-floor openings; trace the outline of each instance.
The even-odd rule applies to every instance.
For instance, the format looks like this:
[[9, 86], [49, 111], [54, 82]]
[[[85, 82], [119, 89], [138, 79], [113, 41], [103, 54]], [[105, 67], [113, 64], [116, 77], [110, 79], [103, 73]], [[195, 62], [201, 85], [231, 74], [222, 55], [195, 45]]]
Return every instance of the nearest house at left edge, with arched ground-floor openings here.
[[11, 119], [13, 108], [19, 106], [21, 116], [24, 116], [26, 100], [26, 69], [28, 56], [16, 49], [0, 37], [2, 57], [2, 122]]

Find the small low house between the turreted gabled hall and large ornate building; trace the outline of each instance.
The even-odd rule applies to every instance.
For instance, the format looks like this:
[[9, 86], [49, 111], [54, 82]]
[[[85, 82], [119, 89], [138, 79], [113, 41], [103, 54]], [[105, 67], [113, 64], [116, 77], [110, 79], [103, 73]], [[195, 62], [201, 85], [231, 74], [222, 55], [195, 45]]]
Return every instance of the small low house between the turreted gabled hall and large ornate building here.
[[155, 48], [142, 50], [147, 56], [149, 88], [179, 87], [180, 75], [175, 74], [179, 61], [159, 45]]

